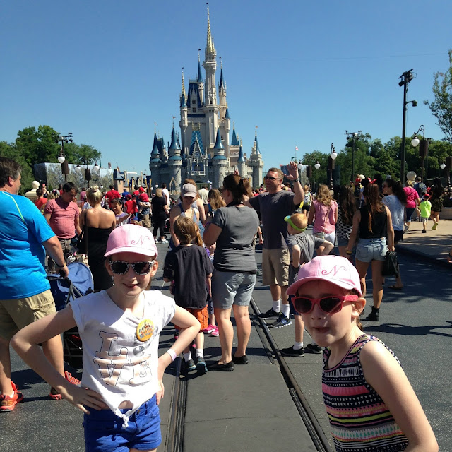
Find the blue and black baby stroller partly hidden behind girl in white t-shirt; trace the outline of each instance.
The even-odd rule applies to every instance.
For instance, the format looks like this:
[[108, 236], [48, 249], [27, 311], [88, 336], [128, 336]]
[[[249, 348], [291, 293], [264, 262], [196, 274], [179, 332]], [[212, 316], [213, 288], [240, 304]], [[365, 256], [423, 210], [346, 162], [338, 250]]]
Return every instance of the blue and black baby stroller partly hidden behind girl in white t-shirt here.
[[[59, 275], [47, 275], [57, 311], [64, 309], [73, 299], [93, 292], [93, 275], [88, 266], [81, 262], [73, 262], [68, 264], [68, 269], [69, 277], [66, 279]], [[63, 347], [64, 360], [72, 367], [80, 369], [83, 349], [77, 328], [71, 328], [63, 333]]]

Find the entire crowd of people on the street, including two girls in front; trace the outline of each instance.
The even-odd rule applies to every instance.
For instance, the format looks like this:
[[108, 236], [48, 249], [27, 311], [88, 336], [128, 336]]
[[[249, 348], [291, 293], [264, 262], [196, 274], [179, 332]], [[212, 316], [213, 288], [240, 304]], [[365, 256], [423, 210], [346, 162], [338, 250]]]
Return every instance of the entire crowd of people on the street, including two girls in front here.
[[[433, 230], [439, 225], [441, 182], [424, 191], [419, 182], [416, 188], [391, 178], [381, 184], [362, 179], [357, 192], [351, 184], [340, 187], [337, 196], [319, 184], [314, 195], [300, 184], [297, 164], [290, 162], [287, 174], [270, 168], [254, 190], [247, 179], [230, 174], [221, 190], [198, 190], [194, 180], [186, 179], [178, 199], [169, 196], [165, 184], [151, 197], [139, 186], [133, 194], [126, 189], [119, 194], [114, 186], [102, 194], [93, 186], [82, 188], [77, 199], [77, 187], [66, 183], [47, 193], [47, 201], [42, 201], [42, 186], [37, 187], [30, 201], [29, 195], [18, 196], [20, 166], [0, 157], [0, 196], [11, 213], [0, 218], [0, 261], [7, 276], [0, 283], [6, 294], [0, 300], [0, 410], [11, 411], [23, 400], [11, 381], [11, 342], [51, 385], [52, 398], [65, 398], [83, 411], [87, 450], [102, 445], [102, 450], [155, 451], [161, 442], [162, 376], [179, 354], [185, 370], [199, 375], [249, 364], [249, 304], [259, 242], [262, 283], [269, 286], [271, 305], [258, 316], [270, 328], [285, 328], [292, 324], [292, 313], [295, 340], [281, 350], [283, 355], [323, 353], [323, 397], [337, 450], [437, 451], [398, 359], [380, 340], [364, 334], [359, 322], [369, 264], [373, 306], [366, 319], [379, 321], [386, 251], [409, 232], [415, 212], [421, 219], [431, 216]], [[173, 297], [149, 290], [159, 265], [157, 244], [166, 244], [167, 234], [163, 278]], [[67, 277], [74, 235], [79, 252], [88, 255], [94, 293], [56, 312], [45, 251], [47, 272]], [[339, 256], [334, 256], [335, 244]], [[26, 288], [20, 284], [25, 273], [35, 278]], [[402, 287], [399, 276], [392, 288]], [[158, 357], [159, 334], [168, 323], [176, 328], [175, 341]], [[60, 334], [73, 327], [83, 342], [81, 381], [62, 364]], [[312, 338], [306, 346], [304, 328]], [[220, 360], [209, 366], [206, 333], [218, 335], [221, 347]], [[356, 388], [362, 389], [359, 396]], [[359, 397], [365, 403], [357, 403]], [[134, 433], [137, 425], [145, 426], [139, 434]]]

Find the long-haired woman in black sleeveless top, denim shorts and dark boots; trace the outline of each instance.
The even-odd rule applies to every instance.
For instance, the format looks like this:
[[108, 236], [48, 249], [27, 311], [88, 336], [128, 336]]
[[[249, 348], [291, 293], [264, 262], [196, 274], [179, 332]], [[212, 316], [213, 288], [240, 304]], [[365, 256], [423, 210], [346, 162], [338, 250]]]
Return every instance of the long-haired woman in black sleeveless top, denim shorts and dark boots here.
[[[372, 266], [374, 306], [366, 320], [379, 321], [381, 299], [383, 299], [383, 275], [381, 270], [386, 251], [394, 251], [394, 230], [390, 210], [381, 202], [379, 187], [368, 184], [364, 189], [365, 205], [353, 216], [352, 234], [346, 253], [352, 254], [353, 245], [359, 237], [356, 250], [356, 268], [361, 279], [363, 295], [366, 294], [366, 275], [369, 263]], [[387, 241], [386, 241], [387, 237]]]

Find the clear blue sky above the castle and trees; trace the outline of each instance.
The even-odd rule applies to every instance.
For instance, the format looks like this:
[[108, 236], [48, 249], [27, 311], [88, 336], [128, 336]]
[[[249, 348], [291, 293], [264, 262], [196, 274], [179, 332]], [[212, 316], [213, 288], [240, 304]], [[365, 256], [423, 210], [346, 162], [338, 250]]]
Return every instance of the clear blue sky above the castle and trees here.
[[[450, 0], [210, 1], [227, 102], [250, 153], [258, 126], [264, 169], [345, 145], [345, 129], [383, 142], [443, 134], [423, 100], [448, 67]], [[148, 169], [154, 123], [179, 121], [181, 69], [195, 77], [206, 47], [205, 1], [6, 1], [0, 19], [0, 140], [28, 126], [71, 131], [120, 169]], [[218, 68], [219, 68], [218, 60]], [[220, 71], [217, 73], [217, 83]], [[188, 86], [188, 83], [186, 83]]]

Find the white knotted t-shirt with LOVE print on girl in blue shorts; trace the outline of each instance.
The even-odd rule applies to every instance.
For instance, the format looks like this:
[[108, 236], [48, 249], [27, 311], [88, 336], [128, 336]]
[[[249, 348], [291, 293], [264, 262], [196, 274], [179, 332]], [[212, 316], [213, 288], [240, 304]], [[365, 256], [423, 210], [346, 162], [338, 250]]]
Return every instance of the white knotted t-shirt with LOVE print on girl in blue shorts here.
[[[136, 337], [137, 319], [115, 304], [105, 290], [71, 302], [83, 343], [81, 387], [102, 395], [104, 402], [121, 419], [124, 427], [140, 406], [158, 390], [158, 342], [162, 328], [173, 318], [174, 299], [158, 290], [145, 290], [144, 316], [150, 338]], [[119, 405], [129, 401], [133, 407], [125, 415]]]

